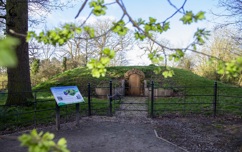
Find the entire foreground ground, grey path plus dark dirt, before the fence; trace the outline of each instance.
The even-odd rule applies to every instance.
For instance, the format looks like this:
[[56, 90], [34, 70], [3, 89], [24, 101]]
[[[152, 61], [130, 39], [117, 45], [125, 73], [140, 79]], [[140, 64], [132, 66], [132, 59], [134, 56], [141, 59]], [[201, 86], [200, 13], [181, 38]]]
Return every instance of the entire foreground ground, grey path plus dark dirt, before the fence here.
[[[67, 139], [72, 152], [242, 152], [242, 120], [239, 118], [85, 117], [74, 123], [38, 129]], [[27, 131], [25, 131], [27, 132]], [[23, 152], [14, 138], [23, 132], [0, 137], [0, 151]]]

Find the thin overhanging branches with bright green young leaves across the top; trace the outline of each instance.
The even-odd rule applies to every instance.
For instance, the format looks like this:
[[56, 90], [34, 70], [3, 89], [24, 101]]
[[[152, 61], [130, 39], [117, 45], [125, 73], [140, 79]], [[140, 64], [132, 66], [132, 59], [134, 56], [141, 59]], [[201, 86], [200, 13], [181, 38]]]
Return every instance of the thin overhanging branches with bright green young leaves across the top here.
[[[83, 5], [80, 8], [80, 11], [78, 12], [76, 18], [80, 15], [80, 13], [84, 10], [86, 7], [86, 3], [88, 0], [85, 0], [83, 2]], [[178, 8], [174, 4], [172, 4], [168, 0], [169, 4], [176, 8], [175, 13], [171, 14], [167, 19], [163, 21], [159, 21], [158, 19], [154, 17], [149, 17], [148, 21], [140, 18], [138, 20], [134, 20], [132, 16], [128, 13], [128, 10], [125, 7], [125, 4], [122, 0], [115, 0], [112, 3], [105, 3], [104, 0], [92, 0], [89, 2], [89, 8], [91, 9], [91, 14], [96, 17], [106, 15], [106, 11], [109, 6], [111, 5], [117, 5], [120, 10], [123, 12], [122, 17], [119, 21], [114, 22], [113, 26], [107, 30], [107, 32], [114, 32], [120, 36], [124, 36], [129, 28], [126, 26], [127, 24], [131, 23], [131, 25], [134, 27], [134, 38], [140, 41], [143, 41], [145, 39], [150, 39], [153, 41], [156, 45], [160, 47], [160, 50], [152, 50], [148, 58], [152, 61], [154, 65], [157, 66], [156, 73], [163, 73], [165, 77], [170, 77], [174, 74], [172, 70], [169, 68], [166, 68], [165, 71], [162, 71], [161, 68], [159, 68], [160, 62], [166, 63], [167, 58], [163, 56], [163, 54], [167, 54], [167, 51], [171, 51], [169, 53], [169, 60], [174, 61], [180, 61], [186, 51], [193, 51], [195, 53], [204, 54], [203, 52], [197, 51], [197, 45], [202, 45], [205, 43], [205, 40], [209, 36], [209, 32], [205, 29], [198, 29], [194, 33], [194, 41], [188, 45], [185, 48], [172, 48], [167, 47], [166, 45], [159, 42], [157, 39], [154, 38], [154, 34], [163, 34], [164, 32], [167, 32], [170, 30], [170, 19], [174, 17], [177, 14], [181, 14], [182, 17], [180, 18], [180, 21], [185, 24], [189, 25], [192, 23], [196, 23], [198, 21], [205, 19], [205, 12], [199, 11], [198, 13], [193, 13], [192, 11], [185, 10], [185, 4], [186, 0], [184, 0], [184, 3]], [[86, 21], [89, 19], [89, 16], [86, 17], [86, 20], [83, 22], [81, 27], [76, 27], [72, 24], [66, 24], [62, 28], [56, 28], [54, 30], [50, 30], [47, 32], [41, 32], [39, 34], [36, 34], [35, 32], [31, 31], [28, 33], [27, 40], [30, 40], [31, 38], [36, 39], [39, 42], [43, 42], [45, 44], [52, 44], [54, 46], [56, 45], [64, 45], [68, 40], [74, 37], [75, 33], [81, 33], [85, 31], [89, 34], [90, 39], [95, 39], [97, 37], [100, 37], [100, 35], [97, 35], [95, 33], [95, 30], [91, 28], [90, 26], [85, 25]], [[206, 55], [206, 54], [204, 54]], [[109, 48], [105, 48], [102, 51], [101, 58], [99, 59], [91, 59], [89, 63], [87, 64], [88, 68], [92, 70], [92, 75], [94, 77], [100, 77], [105, 76], [106, 74], [106, 66], [110, 63], [110, 60], [114, 58], [114, 51], [112, 51]], [[229, 72], [229, 71], [227, 71]]]

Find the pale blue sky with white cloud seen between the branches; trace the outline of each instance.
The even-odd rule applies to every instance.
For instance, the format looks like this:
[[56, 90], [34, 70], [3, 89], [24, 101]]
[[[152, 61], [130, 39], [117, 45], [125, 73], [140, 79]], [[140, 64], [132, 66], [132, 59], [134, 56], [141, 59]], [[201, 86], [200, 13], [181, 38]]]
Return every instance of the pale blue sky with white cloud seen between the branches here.
[[[65, 0], [62, 0], [65, 1]], [[113, 0], [105, 0], [106, 3], [113, 2]], [[158, 21], [164, 21], [167, 17], [171, 16], [175, 9], [169, 5], [167, 0], [123, 0], [128, 13], [134, 18], [142, 18], [147, 20], [149, 17], [154, 17]], [[181, 6], [184, 2], [183, 0], [171, 0], [177, 7]], [[61, 23], [77, 22], [78, 20], [85, 19], [89, 14], [90, 9], [88, 5], [80, 14], [80, 16], [75, 19], [75, 16], [80, 9], [82, 2], [76, 1], [73, 3], [74, 7], [71, 9], [65, 9], [63, 11], [53, 11], [48, 14], [46, 20], [46, 26], [48, 29], [56, 27]], [[187, 0], [185, 9], [188, 11], [193, 11], [197, 13], [199, 11], [205, 11], [206, 20], [200, 21], [192, 25], [183, 25], [179, 19], [182, 15], [177, 15], [173, 17], [170, 21], [171, 29], [161, 35], [161, 39], [166, 39], [170, 42], [173, 47], [184, 47], [189, 42], [192, 41], [193, 34], [197, 28], [206, 28], [212, 30], [214, 27], [214, 16], [212, 16], [211, 11], [221, 12], [217, 7], [218, 0]], [[122, 15], [122, 11], [117, 5], [109, 5], [107, 14], [105, 18], [112, 18], [118, 20]], [[103, 17], [101, 17], [103, 18]], [[89, 22], [95, 20], [95, 17], [91, 16]], [[128, 27], [132, 28], [131, 25]], [[131, 65], [137, 64], [149, 64], [146, 57], [140, 58], [140, 55], [144, 52], [134, 48], [134, 51], [129, 52], [129, 56], [132, 56], [133, 60], [130, 60]], [[136, 57], [134, 59], [134, 56]]]

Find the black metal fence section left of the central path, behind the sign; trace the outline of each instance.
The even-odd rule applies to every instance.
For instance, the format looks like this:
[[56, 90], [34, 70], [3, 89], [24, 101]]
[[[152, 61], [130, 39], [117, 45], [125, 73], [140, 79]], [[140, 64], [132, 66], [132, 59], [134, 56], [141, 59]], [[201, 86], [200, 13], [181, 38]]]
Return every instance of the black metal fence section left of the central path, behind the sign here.
[[[84, 101], [79, 104], [70, 104], [58, 107], [50, 90], [33, 91], [33, 99], [22, 103], [21, 105], [5, 105], [7, 91], [0, 92], [0, 134], [5, 134], [21, 128], [35, 128], [42, 125], [54, 125], [56, 121], [60, 123], [74, 121], [77, 115], [77, 109], [80, 116], [112, 116], [113, 107], [116, 100], [112, 96], [112, 82], [107, 86], [102, 86], [105, 94], [97, 94], [96, 86], [89, 83], [86, 90], [80, 90]], [[100, 88], [100, 87], [99, 87]], [[109, 94], [111, 91], [111, 94]], [[58, 120], [57, 120], [57, 112]]]

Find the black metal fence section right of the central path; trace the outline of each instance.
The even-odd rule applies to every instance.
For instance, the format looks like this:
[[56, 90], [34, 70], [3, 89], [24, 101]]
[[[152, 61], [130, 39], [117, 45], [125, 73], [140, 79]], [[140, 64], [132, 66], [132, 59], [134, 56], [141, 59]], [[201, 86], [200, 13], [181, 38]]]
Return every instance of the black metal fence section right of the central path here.
[[[150, 90], [151, 117], [191, 114], [242, 116], [240, 87], [220, 87], [217, 82], [211, 86], [155, 87], [152, 82]], [[166, 91], [169, 95], [165, 94]]]

